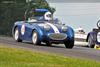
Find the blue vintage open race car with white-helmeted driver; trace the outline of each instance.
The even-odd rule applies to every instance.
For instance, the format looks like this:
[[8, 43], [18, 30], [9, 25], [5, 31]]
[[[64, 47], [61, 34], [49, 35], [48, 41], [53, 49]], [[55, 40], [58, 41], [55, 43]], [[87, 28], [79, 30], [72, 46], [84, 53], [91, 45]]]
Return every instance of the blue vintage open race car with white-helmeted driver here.
[[12, 35], [17, 42], [31, 41], [34, 45], [44, 42], [48, 46], [52, 43], [63, 43], [66, 48], [73, 48], [74, 31], [71, 27], [54, 19], [47, 9], [35, 9], [35, 11], [37, 15], [34, 17], [15, 22]]

